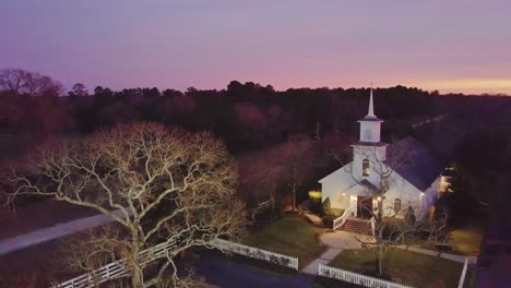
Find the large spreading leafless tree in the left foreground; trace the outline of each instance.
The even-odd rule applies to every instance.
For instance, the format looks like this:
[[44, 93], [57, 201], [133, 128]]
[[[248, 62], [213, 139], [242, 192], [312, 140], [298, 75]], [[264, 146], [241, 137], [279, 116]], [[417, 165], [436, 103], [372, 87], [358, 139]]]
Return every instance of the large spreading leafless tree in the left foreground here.
[[[119, 124], [91, 139], [38, 149], [7, 181], [11, 200], [44, 195], [110, 217], [114, 232], [85, 241], [82, 254], [96, 265], [126, 259], [135, 288], [185, 285], [176, 263], [180, 252], [211, 248], [219, 237], [236, 239], [246, 225], [245, 206], [235, 195], [234, 160], [209, 133]], [[141, 251], [159, 242], [174, 245], [164, 255], [141, 259]]]

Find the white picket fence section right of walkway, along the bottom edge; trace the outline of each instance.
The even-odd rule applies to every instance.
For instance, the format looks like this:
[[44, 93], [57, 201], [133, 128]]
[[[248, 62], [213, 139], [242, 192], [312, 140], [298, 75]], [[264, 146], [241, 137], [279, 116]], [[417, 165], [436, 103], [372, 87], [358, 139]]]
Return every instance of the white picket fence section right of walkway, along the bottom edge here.
[[318, 267], [318, 275], [343, 280], [346, 283], [361, 285], [364, 287], [371, 287], [371, 288], [414, 288], [413, 286], [409, 286], [409, 285], [388, 281], [388, 280], [383, 280], [380, 278], [367, 276], [367, 275], [355, 273], [355, 272], [334, 268], [334, 267], [323, 265], [321, 263], [319, 264], [319, 267]]

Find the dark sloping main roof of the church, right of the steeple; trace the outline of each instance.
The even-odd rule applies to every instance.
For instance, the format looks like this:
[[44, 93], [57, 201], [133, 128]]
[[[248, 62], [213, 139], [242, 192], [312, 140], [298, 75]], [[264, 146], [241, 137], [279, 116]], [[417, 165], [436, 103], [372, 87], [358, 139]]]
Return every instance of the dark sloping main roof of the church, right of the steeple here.
[[389, 145], [384, 164], [420, 191], [426, 191], [444, 168], [430, 149], [413, 137]]

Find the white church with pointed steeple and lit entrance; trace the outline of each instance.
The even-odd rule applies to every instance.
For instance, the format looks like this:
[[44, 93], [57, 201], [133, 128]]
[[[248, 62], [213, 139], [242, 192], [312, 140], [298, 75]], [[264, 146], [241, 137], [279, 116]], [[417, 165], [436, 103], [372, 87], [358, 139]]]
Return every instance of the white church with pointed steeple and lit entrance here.
[[[350, 218], [367, 219], [378, 213], [383, 201], [383, 215], [402, 215], [409, 208], [424, 219], [445, 189], [444, 167], [418, 141], [406, 137], [388, 144], [381, 141], [383, 120], [373, 111], [372, 89], [369, 111], [360, 123], [359, 141], [352, 145], [353, 160], [319, 180], [322, 201], [342, 208]], [[387, 192], [381, 193], [382, 189]]]

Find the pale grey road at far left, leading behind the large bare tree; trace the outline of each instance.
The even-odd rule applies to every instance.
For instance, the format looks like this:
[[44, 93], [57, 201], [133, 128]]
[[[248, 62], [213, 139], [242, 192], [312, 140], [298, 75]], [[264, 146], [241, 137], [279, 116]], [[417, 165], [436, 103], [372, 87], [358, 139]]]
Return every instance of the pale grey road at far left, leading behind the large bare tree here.
[[[115, 211], [114, 214], [121, 216], [121, 211]], [[0, 241], [0, 255], [47, 242], [54, 239], [57, 239], [62, 236], [71, 235], [74, 232], [83, 231], [88, 228], [94, 228], [102, 226], [108, 223], [111, 223], [112, 219], [106, 215], [96, 215], [92, 217], [86, 217], [78, 220], [68, 221], [64, 224], [59, 224], [52, 227], [43, 228], [35, 230], [33, 232], [9, 238]]]

